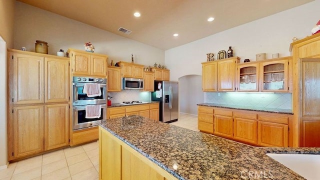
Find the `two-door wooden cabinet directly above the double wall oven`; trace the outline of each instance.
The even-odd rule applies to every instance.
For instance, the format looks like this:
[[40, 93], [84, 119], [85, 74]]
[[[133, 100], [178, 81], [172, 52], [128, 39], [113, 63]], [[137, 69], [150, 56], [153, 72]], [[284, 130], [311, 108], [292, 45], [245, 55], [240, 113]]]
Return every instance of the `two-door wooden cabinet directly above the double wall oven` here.
[[72, 48], [66, 54], [71, 57], [73, 74], [106, 76], [107, 55]]

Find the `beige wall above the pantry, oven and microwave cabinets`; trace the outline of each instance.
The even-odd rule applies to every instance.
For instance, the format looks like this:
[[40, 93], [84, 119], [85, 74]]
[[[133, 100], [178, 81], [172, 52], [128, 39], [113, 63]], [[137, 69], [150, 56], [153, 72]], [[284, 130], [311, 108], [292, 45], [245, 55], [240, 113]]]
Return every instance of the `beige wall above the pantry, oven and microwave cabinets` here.
[[95, 52], [108, 55], [109, 62], [111, 59], [131, 61], [133, 53], [138, 64], [164, 63], [161, 49], [16, 1], [14, 48], [25, 46], [28, 51], [34, 51], [35, 40], [48, 42], [48, 53], [54, 55], [60, 48], [84, 50], [84, 42], [90, 41]]

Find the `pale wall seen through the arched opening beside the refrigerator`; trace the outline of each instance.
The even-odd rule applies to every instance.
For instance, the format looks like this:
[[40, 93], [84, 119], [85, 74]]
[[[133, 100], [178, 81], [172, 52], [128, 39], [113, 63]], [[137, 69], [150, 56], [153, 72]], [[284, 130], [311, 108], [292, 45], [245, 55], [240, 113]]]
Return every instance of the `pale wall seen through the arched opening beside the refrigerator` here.
[[197, 114], [197, 103], [204, 102], [201, 75], [186, 75], [179, 78], [179, 112]]

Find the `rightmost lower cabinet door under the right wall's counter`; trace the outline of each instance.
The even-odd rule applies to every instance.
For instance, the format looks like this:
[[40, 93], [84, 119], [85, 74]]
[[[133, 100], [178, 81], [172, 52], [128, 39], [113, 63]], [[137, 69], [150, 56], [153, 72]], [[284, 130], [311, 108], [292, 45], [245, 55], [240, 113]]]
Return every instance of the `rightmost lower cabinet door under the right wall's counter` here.
[[288, 125], [258, 121], [258, 145], [288, 146]]

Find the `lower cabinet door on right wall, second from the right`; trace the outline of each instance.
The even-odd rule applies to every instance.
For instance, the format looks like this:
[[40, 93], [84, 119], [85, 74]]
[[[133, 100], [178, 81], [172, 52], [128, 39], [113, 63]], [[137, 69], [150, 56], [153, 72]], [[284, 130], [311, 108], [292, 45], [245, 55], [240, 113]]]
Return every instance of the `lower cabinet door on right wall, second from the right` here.
[[233, 119], [233, 138], [256, 144], [257, 121], [237, 117]]

